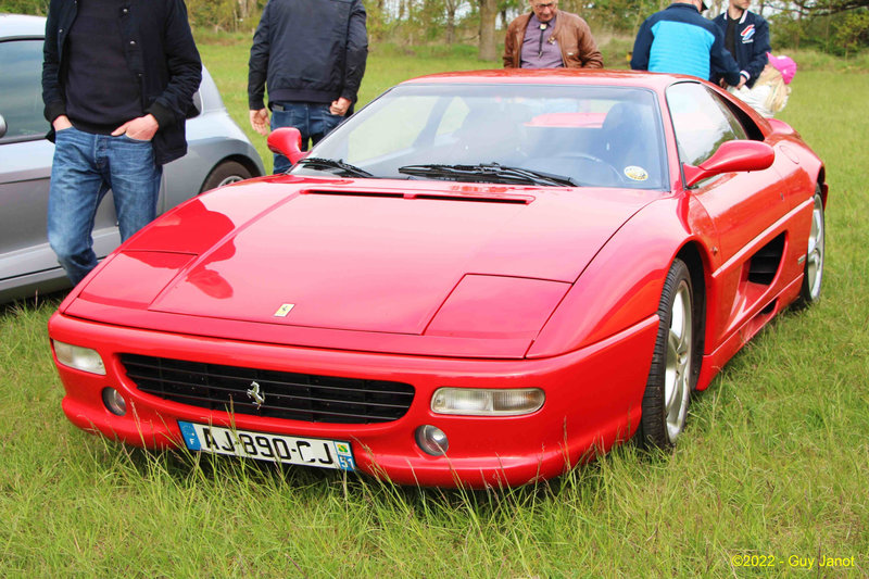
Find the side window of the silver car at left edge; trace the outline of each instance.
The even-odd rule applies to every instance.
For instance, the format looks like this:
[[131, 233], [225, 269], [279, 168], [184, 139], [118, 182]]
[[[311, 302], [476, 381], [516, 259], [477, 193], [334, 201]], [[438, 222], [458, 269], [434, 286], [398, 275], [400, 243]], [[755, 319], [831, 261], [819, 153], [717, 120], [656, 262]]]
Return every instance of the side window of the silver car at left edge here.
[[0, 142], [41, 139], [48, 133], [41, 78], [42, 40], [0, 42], [0, 115], [7, 127]]

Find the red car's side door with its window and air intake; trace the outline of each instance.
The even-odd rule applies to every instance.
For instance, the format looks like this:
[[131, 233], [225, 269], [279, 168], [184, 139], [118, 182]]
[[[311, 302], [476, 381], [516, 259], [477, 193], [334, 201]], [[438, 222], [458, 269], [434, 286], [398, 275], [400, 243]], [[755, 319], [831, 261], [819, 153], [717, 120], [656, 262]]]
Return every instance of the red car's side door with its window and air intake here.
[[[725, 100], [701, 83], [670, 86], [667, 105], [680, 163], [700, 165], [725, 141], [763, 139], [756, 126], [746, 129]], [[709, 312], [708, 320], [711, 343], [743, 327], [782, 285], [779, 273], [786, 242], [782, 219], [793, 209], [782, 179], [785, 162], [777, 154], [767, 169], [716, 175], [689, 191], [691, 201], [708, 214], [718, 240], [710, 288], [717, 310]]]

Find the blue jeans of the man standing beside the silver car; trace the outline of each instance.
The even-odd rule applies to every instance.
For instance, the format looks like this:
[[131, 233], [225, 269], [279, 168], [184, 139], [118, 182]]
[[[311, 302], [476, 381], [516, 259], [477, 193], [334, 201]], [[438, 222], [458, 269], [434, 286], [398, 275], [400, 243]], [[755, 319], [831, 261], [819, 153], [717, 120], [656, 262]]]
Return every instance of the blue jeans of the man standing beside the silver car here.
[[97, 266], [93, 219], [109, 189], [121, 240], [126, 241], [156, 217], [162, 175], [150, 141], [91, 135], [74, 127], [58, 131], [48, 198], [48, 241], [74, 285]]

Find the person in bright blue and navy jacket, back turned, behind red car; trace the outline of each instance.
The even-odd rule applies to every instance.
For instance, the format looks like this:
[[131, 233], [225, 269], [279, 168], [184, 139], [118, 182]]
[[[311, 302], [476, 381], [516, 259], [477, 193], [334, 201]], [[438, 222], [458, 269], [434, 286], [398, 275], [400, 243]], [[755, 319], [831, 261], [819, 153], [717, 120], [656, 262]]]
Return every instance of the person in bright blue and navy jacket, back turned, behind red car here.
[[710, 79], [721, 71], [729, 85], [740, 85], [740, 70], [725, 49], [718, 27], [701, 15], [705, 1], [675, 1], [648, 16], [637, 34], [631, 68], [653, 73], [689, 74]]

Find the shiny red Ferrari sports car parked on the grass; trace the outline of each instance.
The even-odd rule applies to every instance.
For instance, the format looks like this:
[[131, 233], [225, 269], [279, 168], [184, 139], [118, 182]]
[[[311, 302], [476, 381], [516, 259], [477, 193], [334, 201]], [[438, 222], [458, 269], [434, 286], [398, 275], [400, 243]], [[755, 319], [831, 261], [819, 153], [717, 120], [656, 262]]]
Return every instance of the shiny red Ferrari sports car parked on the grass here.
[[695, 78], [427, 76], [269, 146], [288, 174], [166, 213], [51, 318], [76, 426], [522, 484], [672, 445], [692, 391], [820, 294], [823, 164]]

